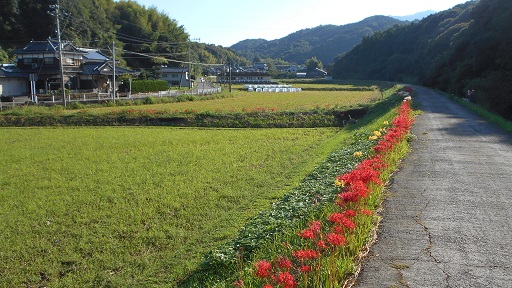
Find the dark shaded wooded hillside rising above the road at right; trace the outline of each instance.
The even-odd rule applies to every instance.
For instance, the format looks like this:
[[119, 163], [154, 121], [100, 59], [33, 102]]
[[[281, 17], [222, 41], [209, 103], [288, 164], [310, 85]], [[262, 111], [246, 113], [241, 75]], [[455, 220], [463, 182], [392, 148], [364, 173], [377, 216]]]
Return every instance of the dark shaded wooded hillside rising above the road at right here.
[[469, 1], [365, 37], [333, 65], [337, 79], [417, 83], [512, 119], [512, 5]]

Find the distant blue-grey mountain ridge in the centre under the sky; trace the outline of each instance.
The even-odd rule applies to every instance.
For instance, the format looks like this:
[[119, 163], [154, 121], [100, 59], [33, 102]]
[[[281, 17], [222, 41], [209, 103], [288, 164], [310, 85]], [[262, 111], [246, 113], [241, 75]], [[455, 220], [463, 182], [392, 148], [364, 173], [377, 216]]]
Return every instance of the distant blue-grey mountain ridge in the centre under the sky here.
[[243, 40], [230, 48], [249, 60], [272, 58], [303, 64], [307, 59], [316, 56], [326, 65], [332, 63], [338, 54], [352, 49], [363, 37], [405, 23], [408, 22], [388, 16], [372, 16], [347, 25], [321, 25], [303, 29], [271, 41]]

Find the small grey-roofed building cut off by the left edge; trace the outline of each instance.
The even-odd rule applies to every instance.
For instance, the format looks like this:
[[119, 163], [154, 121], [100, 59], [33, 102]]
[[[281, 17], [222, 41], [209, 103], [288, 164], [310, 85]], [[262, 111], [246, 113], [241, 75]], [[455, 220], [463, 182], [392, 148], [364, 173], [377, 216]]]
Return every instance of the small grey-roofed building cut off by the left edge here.
[[17, 68], [14, 64], [0, 64], [0, 95], [28, 95], [28, 77], [27, 73]]

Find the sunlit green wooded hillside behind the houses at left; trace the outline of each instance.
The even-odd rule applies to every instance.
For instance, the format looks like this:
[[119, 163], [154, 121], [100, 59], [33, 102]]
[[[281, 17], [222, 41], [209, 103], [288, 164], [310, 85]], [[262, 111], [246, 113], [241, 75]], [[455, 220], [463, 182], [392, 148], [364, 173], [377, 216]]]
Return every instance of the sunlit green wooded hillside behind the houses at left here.
[[[0, 62], [9, 62], [14, 49], [31, 40], [56, 38], [56, 0], [4, 0], [0, 10]], [[193, 43], [185, 27], [159, 12], [131, 0], [61, 0], [62, 39], [79, 47], [99, 48], [116, 55], [131, 68], [152, 68], [162, 64], [178, 66], [192, 60], [207, 63], [246, 61], [233, 51], [215, 45]], [[178, 16], [178, 15], [176, 15]]]

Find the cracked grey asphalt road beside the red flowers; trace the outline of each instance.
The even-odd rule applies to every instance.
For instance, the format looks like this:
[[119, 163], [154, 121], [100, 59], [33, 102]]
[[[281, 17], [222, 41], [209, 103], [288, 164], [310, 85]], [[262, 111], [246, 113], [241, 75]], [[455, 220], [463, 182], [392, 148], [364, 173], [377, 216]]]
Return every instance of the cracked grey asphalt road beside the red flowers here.
[[512, 137], [433, 90], [353, 287], [512, 287]]

